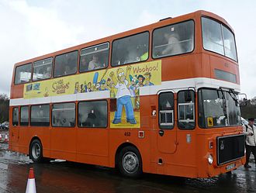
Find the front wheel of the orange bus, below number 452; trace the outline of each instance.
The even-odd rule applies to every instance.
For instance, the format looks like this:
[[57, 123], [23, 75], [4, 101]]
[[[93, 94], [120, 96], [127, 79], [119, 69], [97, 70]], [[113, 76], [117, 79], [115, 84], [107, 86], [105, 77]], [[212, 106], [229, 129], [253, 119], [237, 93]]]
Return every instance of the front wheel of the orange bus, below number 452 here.
[[133, 146], [126, 146], [120, 151], [118, 167], [126, 177], [140, 177], [142, 174], [142, 160], [140, 152]]

